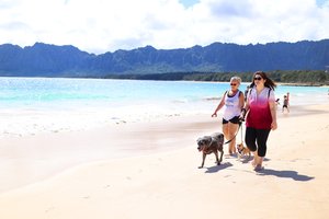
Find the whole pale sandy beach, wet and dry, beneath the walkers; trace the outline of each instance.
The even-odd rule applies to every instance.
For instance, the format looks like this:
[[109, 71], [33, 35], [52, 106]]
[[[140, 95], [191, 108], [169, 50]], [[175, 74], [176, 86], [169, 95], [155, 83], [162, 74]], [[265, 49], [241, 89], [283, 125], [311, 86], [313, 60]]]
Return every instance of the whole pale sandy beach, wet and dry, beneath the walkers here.
[[328, 218], [328, 108], [277, 111], [258, 173], [213, 154], [197, 169], [195, 140], [222, 129], [209, 115], [3, 138], [0, 218]]

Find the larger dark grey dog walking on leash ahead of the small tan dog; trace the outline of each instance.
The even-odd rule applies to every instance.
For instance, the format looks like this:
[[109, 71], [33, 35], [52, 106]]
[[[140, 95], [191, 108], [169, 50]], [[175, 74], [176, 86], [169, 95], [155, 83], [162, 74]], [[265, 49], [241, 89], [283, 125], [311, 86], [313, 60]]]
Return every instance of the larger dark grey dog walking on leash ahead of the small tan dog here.
[[[215, 153], [216, 155], [216, 163], [220, 165], [223, 160], [223, 143], [224, 143], [224, 135], [222, 132], [215, 132], [212, 136], [204, 136], [196, 140], [197, 142], [197, 150], [202, 152], [202, 163], [201, 166], [203, 168], [204, 161], [207, 154]], [[220, 159], [218, 158], [218, 151], [220, 152]]]

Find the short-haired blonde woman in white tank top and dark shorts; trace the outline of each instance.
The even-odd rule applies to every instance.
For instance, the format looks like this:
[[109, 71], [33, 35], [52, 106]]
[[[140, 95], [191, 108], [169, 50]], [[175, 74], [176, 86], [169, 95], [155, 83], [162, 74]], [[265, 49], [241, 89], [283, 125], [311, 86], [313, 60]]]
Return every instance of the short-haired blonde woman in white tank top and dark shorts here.
[[224, 106], [223, 114], [223, 134], [227, 140], [230, 140], [228, 145], [228, 153], [235, 155], [236, 149], [236, 134], [240, 124], [241, 108], [245, 105], [245, 94], [239, 90], [241, 84], [241, 78], [232, 77], [230, 79], [230, 89], [226, 91], [213, 113], [212, 117], [217, 117], [217, 112]]

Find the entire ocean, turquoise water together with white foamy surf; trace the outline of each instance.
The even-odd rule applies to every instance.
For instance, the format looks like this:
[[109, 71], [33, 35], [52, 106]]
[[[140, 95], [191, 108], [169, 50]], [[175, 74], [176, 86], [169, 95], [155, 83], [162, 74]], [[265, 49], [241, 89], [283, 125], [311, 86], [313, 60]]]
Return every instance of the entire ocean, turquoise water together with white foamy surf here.
[[[0, 78], [1, 136], [84, 130], [168, 116], [212, 114], [226, 82]], [[245, 91], [249, 83], [242, 83]], [[291, 105], [328, 103], [328, 88], [279, 85]]]

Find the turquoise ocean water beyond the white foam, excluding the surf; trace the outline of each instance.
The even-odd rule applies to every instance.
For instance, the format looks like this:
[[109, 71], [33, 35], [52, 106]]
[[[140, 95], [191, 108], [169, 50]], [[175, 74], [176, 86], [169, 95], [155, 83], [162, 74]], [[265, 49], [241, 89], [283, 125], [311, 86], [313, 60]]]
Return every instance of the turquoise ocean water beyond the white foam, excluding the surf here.
[[[0, 78], [0, 107], [190, 102], [219, 97], [229, 88], [228, 83], [49, 78]], [[241, 84], [240, 90], [246, 85]], [[321, 103], [320, 97], [326, 96], [327, 91], [327, 88], [281, 85], [276, 95], [280, 97], [286, 92], [297, 97], [313, 95]]]

